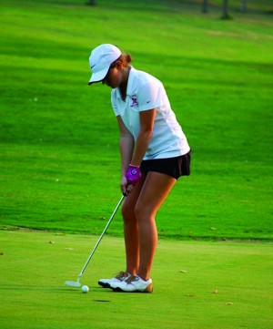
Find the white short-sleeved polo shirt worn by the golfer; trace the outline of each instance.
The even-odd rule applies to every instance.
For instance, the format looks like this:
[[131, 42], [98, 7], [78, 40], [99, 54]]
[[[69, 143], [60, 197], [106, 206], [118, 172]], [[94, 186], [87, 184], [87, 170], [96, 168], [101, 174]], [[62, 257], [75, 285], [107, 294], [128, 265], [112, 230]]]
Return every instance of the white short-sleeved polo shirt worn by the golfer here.
[[136, 141], [140, 130], [139, 112], [156, 108], [152, 139], [144, 159], [166, 159], [184, 155], [189, 151], [187, 138], [170, 107], [162, 83], [146, 72], [131, 67], [126, 89], [126, 101], [119, 88], [112, 89], [112, 107], [120, 116]]

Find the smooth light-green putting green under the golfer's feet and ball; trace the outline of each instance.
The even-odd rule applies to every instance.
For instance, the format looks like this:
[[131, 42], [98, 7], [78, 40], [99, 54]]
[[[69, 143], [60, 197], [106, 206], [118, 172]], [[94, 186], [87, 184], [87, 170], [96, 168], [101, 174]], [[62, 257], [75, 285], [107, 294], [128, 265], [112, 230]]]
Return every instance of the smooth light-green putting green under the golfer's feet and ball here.
[[0, 328], [271, 329], [272, 246], [159, 242], [154, 293], [113, 293], [96, 282], [123, 266], [123, 241], [106, 239], [76, 280], [95, 237], [1, 231]]

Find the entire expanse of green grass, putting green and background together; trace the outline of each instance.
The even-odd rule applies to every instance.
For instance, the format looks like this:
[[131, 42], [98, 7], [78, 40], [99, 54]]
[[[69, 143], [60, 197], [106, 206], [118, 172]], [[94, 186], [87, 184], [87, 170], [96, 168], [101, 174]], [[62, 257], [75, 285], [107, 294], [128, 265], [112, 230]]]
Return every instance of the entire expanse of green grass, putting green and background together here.
[[[0, 4], [0, 329], [271, 329], [270, 1], [243, 15], [230, 0], [229, 21], [220, 0], [207, 15], [201, 1], [85, 3]], [[87, 86], [106, 42], [164, 82], [192, 148], [157, 215], [152, 294], [97, 286], [124, 267], [119, 212], [82, 278], [90, 293], [64, 284], [120, 199], [110, 90]]]

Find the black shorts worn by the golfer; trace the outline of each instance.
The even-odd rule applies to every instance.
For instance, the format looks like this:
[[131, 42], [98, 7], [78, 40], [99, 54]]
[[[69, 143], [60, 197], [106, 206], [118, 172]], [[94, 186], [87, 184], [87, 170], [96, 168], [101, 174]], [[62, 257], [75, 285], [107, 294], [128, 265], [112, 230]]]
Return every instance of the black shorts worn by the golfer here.
[[190, 174], [190, 151], [182, 156], [167, 159], [146, 159], [141, 162], [141, 172], [156, 171], [167, 174], [176, 180]]

